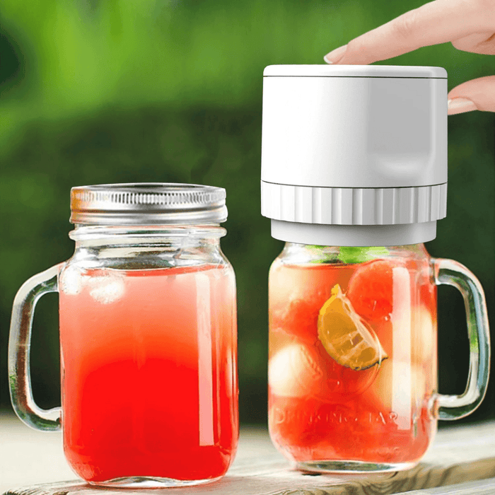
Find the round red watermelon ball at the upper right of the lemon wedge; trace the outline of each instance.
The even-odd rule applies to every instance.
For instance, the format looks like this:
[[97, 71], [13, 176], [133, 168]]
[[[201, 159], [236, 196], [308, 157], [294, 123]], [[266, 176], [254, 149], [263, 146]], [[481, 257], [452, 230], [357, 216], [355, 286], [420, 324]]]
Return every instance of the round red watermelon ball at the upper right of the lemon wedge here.
[[379, 325], [392, 313], [392, 269], [400, 262], [375, 260], [359, 265], [349, 280], [347, 297], [356, 313]]

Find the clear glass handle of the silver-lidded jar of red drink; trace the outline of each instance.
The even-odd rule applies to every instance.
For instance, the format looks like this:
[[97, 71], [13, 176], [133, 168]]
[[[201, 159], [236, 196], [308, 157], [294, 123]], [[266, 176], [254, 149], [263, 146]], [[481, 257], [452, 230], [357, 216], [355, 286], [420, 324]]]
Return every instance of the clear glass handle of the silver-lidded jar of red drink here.
[[61, 408], [41, 409], [33, 399], [30, 374], [30, 340], [33, 313], [38, 299], [58, 291], [58, 276], [63, 263], [36, 274], [24, 282], [13, 301], [8, 339], [8, 382], [13, 409], [28, 426], [37, 430], [60, 429]]

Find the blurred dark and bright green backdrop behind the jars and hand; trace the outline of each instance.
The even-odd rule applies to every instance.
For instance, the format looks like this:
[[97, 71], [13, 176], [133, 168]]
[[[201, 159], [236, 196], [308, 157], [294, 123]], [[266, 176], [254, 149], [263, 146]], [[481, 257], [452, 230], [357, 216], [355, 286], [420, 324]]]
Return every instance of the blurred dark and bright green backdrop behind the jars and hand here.
[[[1, 407], [13, 296], [66, 260], [69, 190], [107, 182], [225, 187], [223, 250], [238, 281], [240, 419], [266, 421], [267, 272], [281, 250], [260, 215], [262, 71], [325, 53], [421, 1], [4, 0], [0, 12]], [[443, 66], [449, 89], [494, 58], [427, 47], [388, 64]], [[494, 311], [494, 115], [449, 117], [448, 216], [431, 255], [466, 264]], [[33, 388], [59, 404], [57, 296], [33, 330]], [[439, 290], [439, 389], [460, 393], [462, 298]], [[474, 421], [495, 417], [494, 380]]]

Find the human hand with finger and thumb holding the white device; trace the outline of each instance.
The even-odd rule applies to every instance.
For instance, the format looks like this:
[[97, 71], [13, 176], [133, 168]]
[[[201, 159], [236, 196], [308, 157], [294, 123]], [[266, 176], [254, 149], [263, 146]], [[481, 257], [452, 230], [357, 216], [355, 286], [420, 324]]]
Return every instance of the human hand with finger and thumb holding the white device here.
[[[434, 0], [354, 38], [324, 59], [327, 64], [371, 64], [420, 47], [451, 42], [465, 52], [495, 54], [495, 0]], [[448, 93], [448, 113], [495, 112], [495, 76]]]

